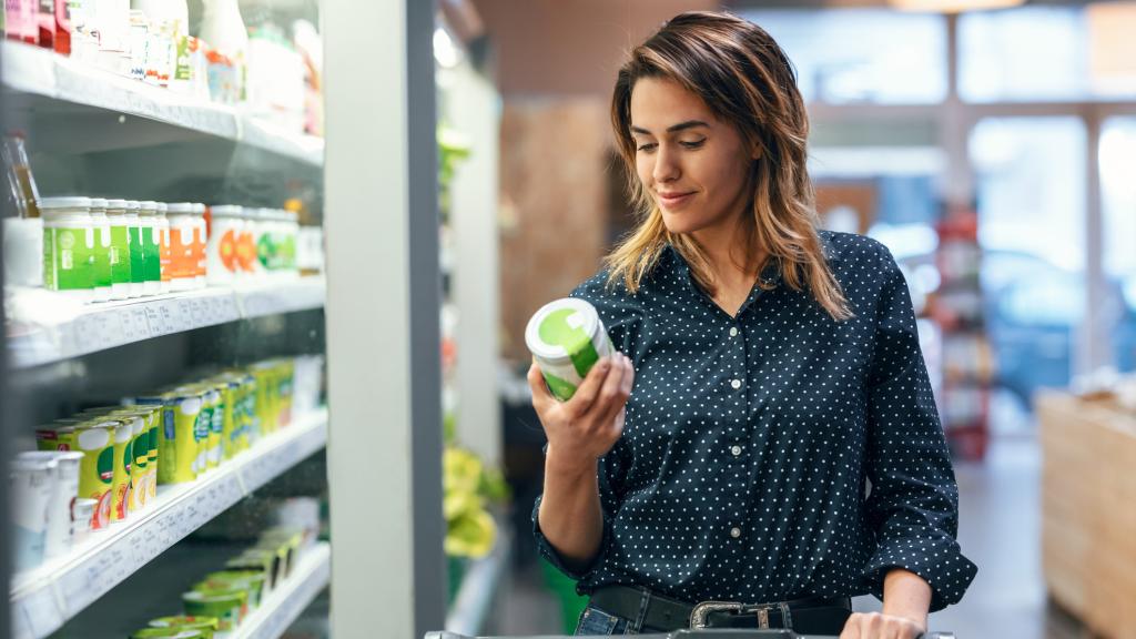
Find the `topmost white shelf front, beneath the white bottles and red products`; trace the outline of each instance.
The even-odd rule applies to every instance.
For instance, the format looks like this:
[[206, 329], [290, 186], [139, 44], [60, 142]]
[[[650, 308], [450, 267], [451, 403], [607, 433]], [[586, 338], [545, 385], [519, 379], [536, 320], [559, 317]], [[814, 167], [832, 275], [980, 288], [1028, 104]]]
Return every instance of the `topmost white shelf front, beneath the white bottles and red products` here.
[[20, 42], [0, 47], [5, 85], [18, 93], [139, 116], [175, 128], [243, 142], [311, 166], [324, 164], [324, 140], [277, 130], [241, 109], [137, 82]]

